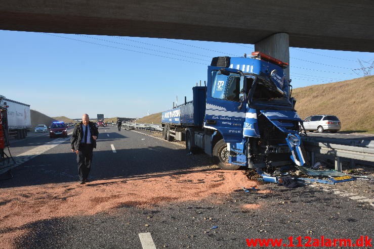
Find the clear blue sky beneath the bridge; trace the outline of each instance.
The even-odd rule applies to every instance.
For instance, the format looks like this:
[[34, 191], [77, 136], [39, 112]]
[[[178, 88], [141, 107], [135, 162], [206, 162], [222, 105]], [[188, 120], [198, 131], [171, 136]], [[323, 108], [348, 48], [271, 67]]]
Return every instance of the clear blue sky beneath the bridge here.
[[[143, 117], [192, 99], [213, 57], [253, 44], [0, 30], [0, 95], [51, 117]], [[294, 88], [362, 77], [374, 53], [290, 47]], [[374, 71], [374, 70], [373, 70]]]

